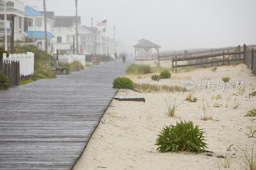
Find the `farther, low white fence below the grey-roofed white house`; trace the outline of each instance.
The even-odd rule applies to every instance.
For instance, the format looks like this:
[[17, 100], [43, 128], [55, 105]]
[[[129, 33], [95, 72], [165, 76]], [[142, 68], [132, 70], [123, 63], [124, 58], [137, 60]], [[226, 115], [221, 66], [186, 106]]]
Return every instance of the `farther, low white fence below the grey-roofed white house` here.
[[58, 61], [62, 63], [72, 63], [73, 61], [79, 61], [83, 66], [85, 66], [85, 55], [78, 55], [78, 54], [58, 55]]

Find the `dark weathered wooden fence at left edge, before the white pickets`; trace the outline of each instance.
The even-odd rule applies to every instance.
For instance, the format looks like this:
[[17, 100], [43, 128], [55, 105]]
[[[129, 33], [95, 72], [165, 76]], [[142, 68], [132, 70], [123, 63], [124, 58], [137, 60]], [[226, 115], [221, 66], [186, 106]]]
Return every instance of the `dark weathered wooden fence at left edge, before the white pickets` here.
[[20, 62], [4, 60], [0, 63], [0, 71], [8, 77], [10, 85], [19, 85], [20, 82]]

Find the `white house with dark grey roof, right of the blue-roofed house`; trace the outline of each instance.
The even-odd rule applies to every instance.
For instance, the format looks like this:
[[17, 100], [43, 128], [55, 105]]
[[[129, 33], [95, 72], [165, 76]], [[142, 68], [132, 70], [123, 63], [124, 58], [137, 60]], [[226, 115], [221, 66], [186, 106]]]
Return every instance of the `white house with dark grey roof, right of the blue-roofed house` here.
[[[77, 17], [78, 32], [81, 25], [80, 16]], [[76, 17], [55, 16], [55, 23], [52, 27], [54, 53], [59, 50], [60, 54], [73, 54], [73, 45], [76, 53]], [[78, 36], [78, 51], [81, 51], [80, 36]]]

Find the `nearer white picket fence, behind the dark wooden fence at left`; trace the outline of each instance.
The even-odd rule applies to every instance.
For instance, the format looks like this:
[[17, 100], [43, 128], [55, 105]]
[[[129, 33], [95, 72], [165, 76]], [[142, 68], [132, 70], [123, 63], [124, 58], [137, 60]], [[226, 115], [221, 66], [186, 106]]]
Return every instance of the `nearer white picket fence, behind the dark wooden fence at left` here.
[[27, 52], [27, 54], [10, 54], [9, 57], [6, 57], [6, 54], [3, 53], [3, 61], [19, 61], [20, 75], [29, 75], [34, 74], [34, 55], [32, 52]]

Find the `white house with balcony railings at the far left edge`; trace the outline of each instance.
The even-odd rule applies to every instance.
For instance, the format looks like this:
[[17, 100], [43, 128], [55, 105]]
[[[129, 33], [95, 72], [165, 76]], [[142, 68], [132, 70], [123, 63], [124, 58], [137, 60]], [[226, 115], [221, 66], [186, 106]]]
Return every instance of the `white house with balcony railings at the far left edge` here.
[[[14, 41], [25, 40], [24, 3], [19, 0], [6, 0], [7, 40], [11, 40], [11, 14], [14, 15]], [[4, 1], [0, 0], [0, 39], [4, 40]]]

